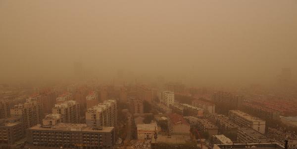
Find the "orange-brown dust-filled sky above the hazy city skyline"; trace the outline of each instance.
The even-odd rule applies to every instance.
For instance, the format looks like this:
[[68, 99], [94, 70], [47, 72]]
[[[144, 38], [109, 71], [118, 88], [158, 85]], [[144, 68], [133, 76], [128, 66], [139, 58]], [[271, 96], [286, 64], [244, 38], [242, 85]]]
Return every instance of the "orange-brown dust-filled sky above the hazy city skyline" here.
[[0, 0], [0, 82], [296, 80], [296, 0]]

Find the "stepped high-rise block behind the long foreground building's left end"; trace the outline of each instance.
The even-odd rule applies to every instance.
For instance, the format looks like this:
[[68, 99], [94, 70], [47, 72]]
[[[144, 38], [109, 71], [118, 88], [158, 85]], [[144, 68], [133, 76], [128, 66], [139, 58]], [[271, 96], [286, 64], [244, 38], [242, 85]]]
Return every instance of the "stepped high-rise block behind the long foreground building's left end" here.
[[28, 98], [26, 103], [11, 108], [10, 115], [12, 117], [22, 117], [26, 129], [42, 123], [44, 116], [43, 105], [39, 102], [39, 98]]

